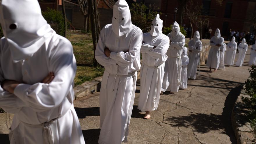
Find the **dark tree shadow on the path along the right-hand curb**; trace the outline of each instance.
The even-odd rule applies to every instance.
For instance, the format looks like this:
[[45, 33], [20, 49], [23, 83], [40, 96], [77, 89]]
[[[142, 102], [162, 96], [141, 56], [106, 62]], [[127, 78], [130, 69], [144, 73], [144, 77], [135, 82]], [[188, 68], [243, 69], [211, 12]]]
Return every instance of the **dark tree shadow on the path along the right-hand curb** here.
[[228, 135], [231, 142], [235, 144], [237, 142], [232, 129], [231, 114], [241, 89], [241, 85], [231, 89], [226, 97], [222, 115], [192, 113], [187, 116], [170, 117], [167, 118], [167, 121], [175, 127], [192, 127], [194, 131], [202, 134], [209, 131], [225, 129], [223, 134]]

